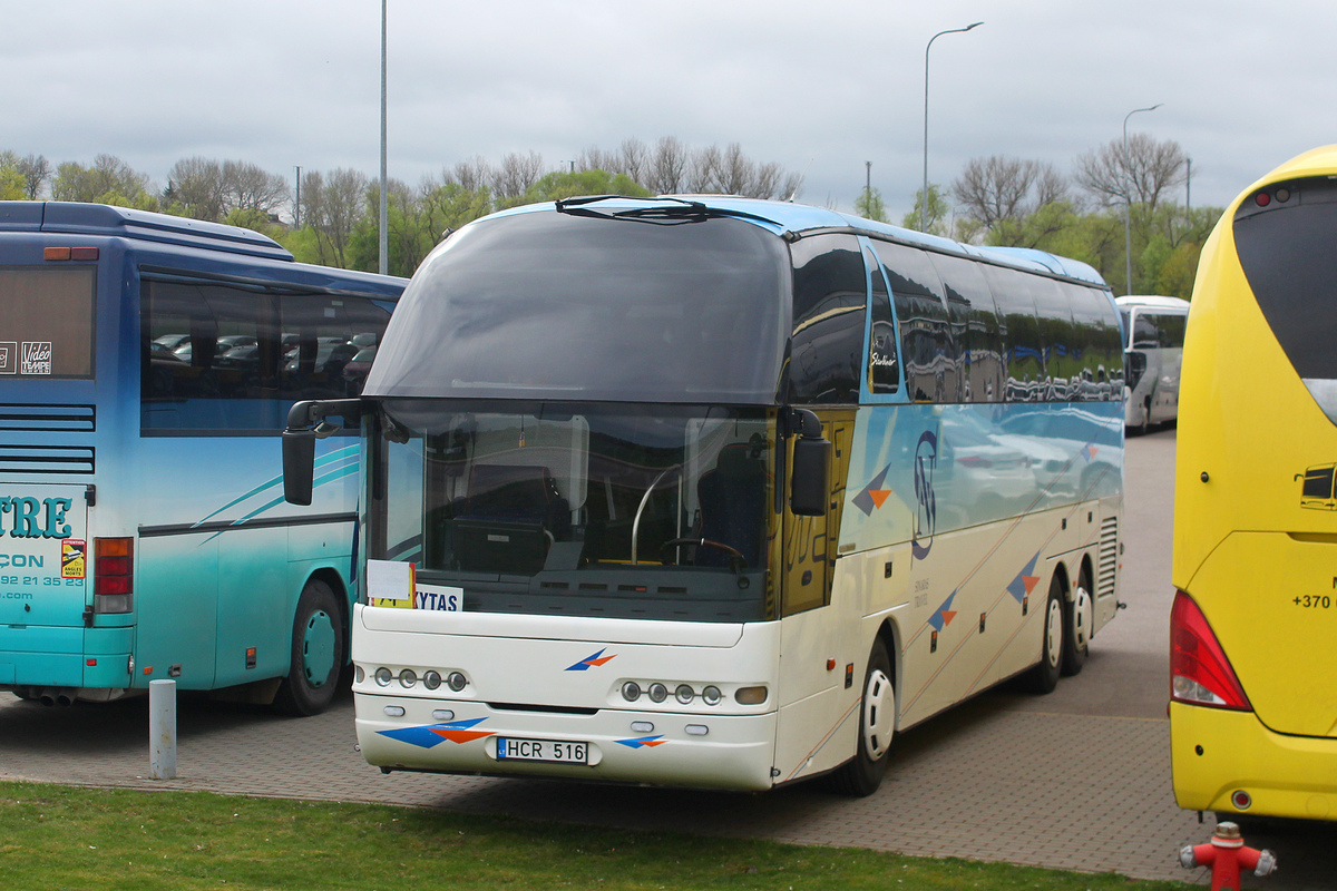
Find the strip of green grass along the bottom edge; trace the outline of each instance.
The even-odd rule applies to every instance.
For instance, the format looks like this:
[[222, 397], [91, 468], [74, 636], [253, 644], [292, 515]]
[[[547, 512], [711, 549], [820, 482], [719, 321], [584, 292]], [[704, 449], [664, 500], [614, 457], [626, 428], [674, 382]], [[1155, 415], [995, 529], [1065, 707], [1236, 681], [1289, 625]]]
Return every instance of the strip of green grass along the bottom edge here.
[[0, 888], [1174, 888], [380, 804], [0, 783]]

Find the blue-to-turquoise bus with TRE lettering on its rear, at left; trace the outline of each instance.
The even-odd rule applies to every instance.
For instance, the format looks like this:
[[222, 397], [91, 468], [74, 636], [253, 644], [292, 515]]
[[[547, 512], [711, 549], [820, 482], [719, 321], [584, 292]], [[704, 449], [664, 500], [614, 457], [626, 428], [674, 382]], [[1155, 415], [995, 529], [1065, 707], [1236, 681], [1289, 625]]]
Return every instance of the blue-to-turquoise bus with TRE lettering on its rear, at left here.
[[0, 203], [0, 689], [329, 704], [360, 446], [322, 443], [298, 510], [278, 434], [293, 402], [358, 391], [404, 283], [230, 226]]

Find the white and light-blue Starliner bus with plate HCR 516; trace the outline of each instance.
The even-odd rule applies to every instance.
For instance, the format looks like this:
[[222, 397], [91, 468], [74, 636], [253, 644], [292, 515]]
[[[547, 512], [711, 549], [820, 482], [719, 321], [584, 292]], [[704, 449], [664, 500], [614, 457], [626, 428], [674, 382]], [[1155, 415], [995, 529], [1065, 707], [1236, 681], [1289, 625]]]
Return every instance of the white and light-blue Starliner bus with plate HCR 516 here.
[[873, 792], [1115, 614], [1122, 369], [1110, 289], [1038, 251], [721, 196], [463, 227], [285, 433], [303, 502], [361, 418], [362, 755]]

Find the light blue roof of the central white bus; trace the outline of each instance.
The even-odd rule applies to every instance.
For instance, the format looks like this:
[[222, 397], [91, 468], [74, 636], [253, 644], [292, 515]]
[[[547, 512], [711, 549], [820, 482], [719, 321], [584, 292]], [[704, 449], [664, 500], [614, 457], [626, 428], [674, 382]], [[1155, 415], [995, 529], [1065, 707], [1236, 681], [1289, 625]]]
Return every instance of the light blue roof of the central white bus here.
[[[796, 204], [793, 202], [763, 200], [758, 198], [738, 198], [734, 195], [662, 195], [659, 198], [624, 198], [619, 195], [595, 196], [591, 199], [572, 199], [572, 204], [588, 212], [607, 210], [610, 212], [628, 208], [668, 207], [670, 202], [678, 202], [683, 207], [690, 203], [699, 203], [727, 215], [738, 215], [742, 219], [770, 228], [777, 235], [802, 236], [805, 232], [817, 230], [848, 230], [878, 238], [890, 238], [915, 247], [957, 254], [971, 259], [997, 263], [1023, 269], [1031, 273], [1060, 275], [1064, 278], [1087, 282], [1098, 287], [1107, 287], [1104, 279], [1094, 267], [1082, 260], [1066, 256], [1056, 256], [1047, 251], [1027, 247], [977, 247], [963, 244], [949, 238], [928, 235], [910, 228], [878, 223], [862, 219], [852, 214], [813, 207], [810, 204]], [[564, 204], [564, 202], [558, 202]], [[529, 204], [516, 207], [501, 214], [523, 214], [552, 210], [556, 204]], [[568, 204], [570, 206], [570, 204]], [[499, 214], [500, 215], [500, 214]]]

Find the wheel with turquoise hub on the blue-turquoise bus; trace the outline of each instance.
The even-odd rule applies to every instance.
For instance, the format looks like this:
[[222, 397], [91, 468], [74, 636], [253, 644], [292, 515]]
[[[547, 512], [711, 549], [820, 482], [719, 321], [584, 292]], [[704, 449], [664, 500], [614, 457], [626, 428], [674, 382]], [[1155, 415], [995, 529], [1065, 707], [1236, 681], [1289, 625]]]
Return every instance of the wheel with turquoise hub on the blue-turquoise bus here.
[[297, 601], [287, 677], [278, 688], [274, 708], [298, 716], [320, 715], [329, 708], [338, 689], [344, 653], [338, 600], [329, 585], [312, 578]]

